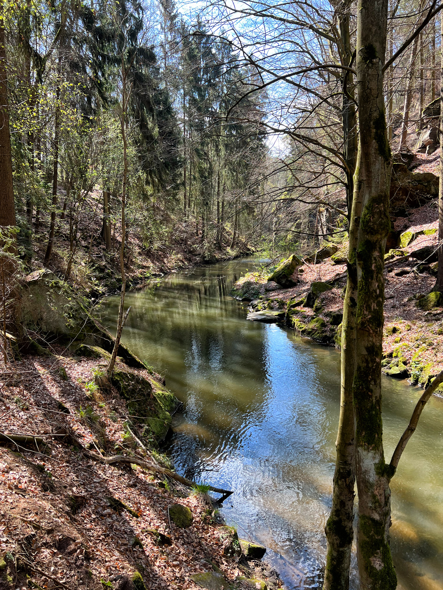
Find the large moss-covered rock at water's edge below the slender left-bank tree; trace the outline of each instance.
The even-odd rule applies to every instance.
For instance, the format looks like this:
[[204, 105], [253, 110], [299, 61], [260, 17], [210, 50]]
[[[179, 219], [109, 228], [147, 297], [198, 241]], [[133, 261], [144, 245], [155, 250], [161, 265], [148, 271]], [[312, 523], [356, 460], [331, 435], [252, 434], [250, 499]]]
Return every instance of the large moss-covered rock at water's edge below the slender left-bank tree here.
[[146, 424], [158, 441], [165, 438], [171, 426], [171, 414], [178, 407], [178, 399], [161, 383], [118, 366], [110, 375], [110, 382], [120, 396], [126, 399], [126, 407], [133, 417]]

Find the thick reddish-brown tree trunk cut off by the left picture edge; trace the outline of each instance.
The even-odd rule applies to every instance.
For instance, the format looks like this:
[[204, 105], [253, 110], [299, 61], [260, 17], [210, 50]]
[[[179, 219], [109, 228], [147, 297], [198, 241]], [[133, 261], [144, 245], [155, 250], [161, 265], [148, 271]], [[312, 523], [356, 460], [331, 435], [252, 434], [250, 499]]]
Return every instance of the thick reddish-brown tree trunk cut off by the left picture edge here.
[[[3, 7], [1, 7], [1, 11]], [[0, 19], [0, 225], [15, 225], [12, 185], [11, 136], [9, 135], [8, 88], [3, 18]]]

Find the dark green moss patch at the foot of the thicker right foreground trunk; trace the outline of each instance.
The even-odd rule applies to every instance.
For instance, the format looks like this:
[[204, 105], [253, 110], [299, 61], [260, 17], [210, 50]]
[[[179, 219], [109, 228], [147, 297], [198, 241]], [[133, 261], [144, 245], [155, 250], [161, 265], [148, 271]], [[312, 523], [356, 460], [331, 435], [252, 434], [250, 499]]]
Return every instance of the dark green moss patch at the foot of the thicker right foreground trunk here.
[[[373, 590], [395, 590], [397, 576], [392, 562], [389, 542], [385, 540], [385, 523], [362, 515], [360, 516], [359, 527], [363, 533], [360, 537], [360, 552], [363, 558], [361, 566], [366, 570], [369, 578], [372, 579], [371, 587]], [[378, 562], [377, 566], [373, 563], [374, 558]]]

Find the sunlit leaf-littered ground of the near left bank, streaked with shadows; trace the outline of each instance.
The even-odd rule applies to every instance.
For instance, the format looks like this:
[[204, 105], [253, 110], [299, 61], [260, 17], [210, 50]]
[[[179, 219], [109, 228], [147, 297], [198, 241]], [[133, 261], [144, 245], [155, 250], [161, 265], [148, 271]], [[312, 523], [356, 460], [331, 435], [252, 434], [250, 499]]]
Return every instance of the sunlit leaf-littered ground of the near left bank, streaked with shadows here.
[[[201, 582], [191, 576], [203, 572], [206, 588], [263, 588], [255, 572], [277, 587], [275, 572], [246, 562], [206, 494], [135, 464], [100, 461], [102, 454], [149, 457], [125, 430], [125, 399], [92, 385], [103, 359], [57, 352], [27, 356], [14, 376], [1, 376], [2, 432], [44, 443], [1, 443], [0, 587], [196, 589]], [[177, 503], [190, 509], [191, 526], [171, 522]], [[207, 579], [218, 585], [204, 586]]]

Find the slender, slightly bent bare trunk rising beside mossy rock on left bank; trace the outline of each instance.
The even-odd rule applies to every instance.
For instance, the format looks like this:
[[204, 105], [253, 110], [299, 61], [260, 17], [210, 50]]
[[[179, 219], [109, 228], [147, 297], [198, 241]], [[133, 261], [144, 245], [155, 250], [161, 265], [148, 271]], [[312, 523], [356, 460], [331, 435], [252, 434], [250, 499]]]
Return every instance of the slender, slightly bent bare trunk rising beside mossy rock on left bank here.
[[125, 291], [126, 291], [126, 276], [125, 276], [125, 233], [126, 233], [126, 221], [125, 221], [125, 205], [126, 205], [126, 181], [128, 178], [128, 153], [127, 153], [127, 141], [126, 141], [126, 107], [128, 106], [128, 97], [126, 96], [126, 68], [125, 58], [122, 54], [122, 117], [120, 120], [122, 130], [122, 141], [123, 141], [123, 185], [122, 185], [122, 243], [120, 244], [120, 275], [122, 277], [122, 292], [120, 295], [120, 307], [119, 316], [117, 322], [117, 334], [115, 336], [114, 348], [112, 350], [111, 358], [109, 359], [108, 372], [112, 373], [117, 358], [117, 352], [120, 346], [120, 337], [122, 336], [123, 330], [123, 309], [125, 306]]

